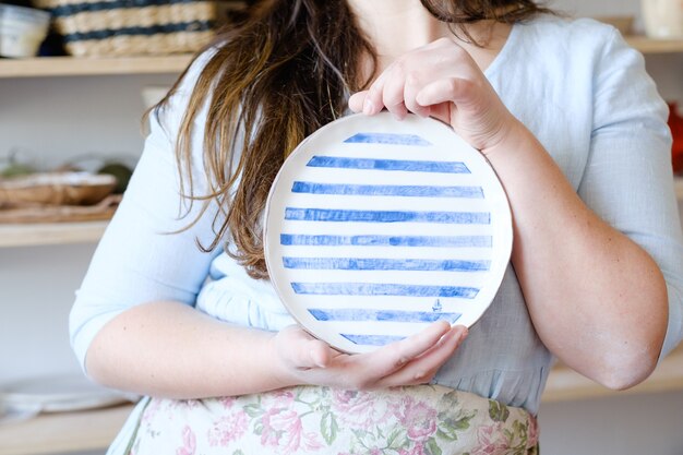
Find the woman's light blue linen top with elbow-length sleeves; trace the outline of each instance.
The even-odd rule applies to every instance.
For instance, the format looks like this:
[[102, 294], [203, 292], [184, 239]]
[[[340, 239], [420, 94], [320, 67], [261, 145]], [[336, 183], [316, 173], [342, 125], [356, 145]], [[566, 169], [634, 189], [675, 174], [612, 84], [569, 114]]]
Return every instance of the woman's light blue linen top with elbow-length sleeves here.
[[[70, 327], [82, 364], [93, 337], [108, 321], [151, 300], [178, 300], [224, 321], [271, 331], [293, 323], [269, 282], [250, 278], [223, 251], [197, 249], [195, 238], [205, 244], [213, 239], [215, 206], [191, 229], [166, 234], [185, 226], [200, 208], [194, 204], [190, 218], [177, 219], [181, 202], [173, 141], [205, 61], [206, 56], [191, 69], [160, 113], [160, 123], [152, 118], [123, 202], [77, 291]], [[486, 74], [585, 203], [643, 246], [661, 267], [670, 302], [663, 348], [668, 352], [682, 336], [683, 239], [668, 111], [643, 57], [610, 26], [540, 16], [513, 27]], [[202, 115], [193, 139], [197, 193], [206, 189], [203, 122]], [[434, 382], [536, 414], [551, 363], [552, 355], [538, 338], [508, 267], [493, 303]]]

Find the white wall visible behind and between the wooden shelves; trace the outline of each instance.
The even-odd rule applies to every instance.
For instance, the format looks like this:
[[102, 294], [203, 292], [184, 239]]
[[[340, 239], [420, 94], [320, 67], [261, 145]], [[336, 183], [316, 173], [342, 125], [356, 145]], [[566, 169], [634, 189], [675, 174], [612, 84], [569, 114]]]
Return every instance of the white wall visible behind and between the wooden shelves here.
[[[638, 13], [638, 0], [552, 2], [583, 15]], [[647, 58], [668, 99], [683, 99], [683, 56]], [[0, 80], [0, 158], [21, 147], [51, 167], [96, 153], [136, 156], [140, 91], [170, 76]], [[27, 121], [29, 120], [29, 121]], [[67, 336], [73, 290], [94, 246], [0, 249], [0, 383], [76, 372]], [[683, 393], [543, 405], [544, 454], [683, 455]]]

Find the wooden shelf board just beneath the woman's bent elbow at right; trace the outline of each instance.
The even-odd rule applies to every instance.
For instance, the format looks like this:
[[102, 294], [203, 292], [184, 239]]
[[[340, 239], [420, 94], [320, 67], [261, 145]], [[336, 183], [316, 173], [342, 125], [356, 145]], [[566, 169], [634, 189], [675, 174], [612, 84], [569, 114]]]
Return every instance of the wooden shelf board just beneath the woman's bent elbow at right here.
[[553, 403], [678, 390], [683, 390], [683, 345], [664, 358], [645, 382], [626, 391], [612, 391], [558, 364], [550, 372], [541, 400]]

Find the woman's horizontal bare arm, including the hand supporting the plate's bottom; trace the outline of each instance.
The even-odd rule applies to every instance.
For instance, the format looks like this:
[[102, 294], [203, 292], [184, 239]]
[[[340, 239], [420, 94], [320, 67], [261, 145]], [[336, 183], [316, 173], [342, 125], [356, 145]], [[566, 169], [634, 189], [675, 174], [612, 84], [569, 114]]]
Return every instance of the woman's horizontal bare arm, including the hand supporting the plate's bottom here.
[[131, 308], [91, 345], [91, 376], [171, 398], [233, 396], [298, 385], [372, 390], [423, 384], [467, 336], [445, 321], [372, 352], [347, 355], [291, 325], [277, 334], [214, 320], [177, 302]]

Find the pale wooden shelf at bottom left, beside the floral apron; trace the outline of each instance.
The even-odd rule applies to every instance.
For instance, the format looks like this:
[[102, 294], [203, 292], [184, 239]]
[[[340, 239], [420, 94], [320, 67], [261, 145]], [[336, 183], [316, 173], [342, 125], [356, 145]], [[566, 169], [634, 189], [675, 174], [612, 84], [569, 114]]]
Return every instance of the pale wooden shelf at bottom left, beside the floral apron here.
[[40, 455], [100, 451], [111, 444], [132, 405], [46, 414], [0, 424], [0, 455]]

